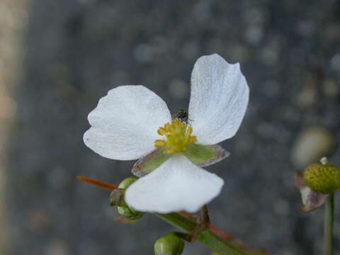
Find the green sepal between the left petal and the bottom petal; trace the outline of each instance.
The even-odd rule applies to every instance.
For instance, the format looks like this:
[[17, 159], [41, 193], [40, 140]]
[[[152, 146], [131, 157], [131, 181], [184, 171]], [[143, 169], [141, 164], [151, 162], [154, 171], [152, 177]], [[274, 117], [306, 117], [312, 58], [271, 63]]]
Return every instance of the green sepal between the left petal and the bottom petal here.
[[171, 154], [164, 153], [166, 148], [155, 149], [153, 152], [147, 154], [137, 160], [132, 167], [132, 174], [138, 177], [146, 176], [147, 174], [161, 166], [167, 159], [171, 157]]

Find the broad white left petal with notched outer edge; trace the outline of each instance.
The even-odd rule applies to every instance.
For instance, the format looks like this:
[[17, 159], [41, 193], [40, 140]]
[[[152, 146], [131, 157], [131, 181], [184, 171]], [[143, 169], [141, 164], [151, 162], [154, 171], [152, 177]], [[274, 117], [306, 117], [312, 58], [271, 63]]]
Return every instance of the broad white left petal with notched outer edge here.
[[145, 86], [118, 86], [89, 114], [85, 145], [109, 159], [138, 159], [154, 148], [157, 129], [171, 121], [166, 103]]

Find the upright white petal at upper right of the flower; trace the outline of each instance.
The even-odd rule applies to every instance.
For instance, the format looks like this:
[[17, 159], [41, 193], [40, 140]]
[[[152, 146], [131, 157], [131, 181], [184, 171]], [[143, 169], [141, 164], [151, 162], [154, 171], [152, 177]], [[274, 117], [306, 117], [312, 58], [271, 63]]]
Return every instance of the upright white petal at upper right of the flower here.
[[233, 137], [241, 125], [249, 99], [239, 63], [229, 64], [217, 54], [200, 57], [191, 74], [188, 118], [201, 145], [215, 145]]

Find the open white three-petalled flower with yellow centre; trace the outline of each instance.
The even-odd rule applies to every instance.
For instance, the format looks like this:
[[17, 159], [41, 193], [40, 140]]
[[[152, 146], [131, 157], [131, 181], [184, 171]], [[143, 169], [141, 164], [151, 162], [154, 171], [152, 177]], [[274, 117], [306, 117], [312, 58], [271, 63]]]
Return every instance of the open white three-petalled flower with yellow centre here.
[[[171, 123], [166, 103], [145, 86], [118, 86], [89, 114], [91, 128], [84, 142], [101, 156], [119, 160], [140, 159], [155, 146], [166, 147], [162, 153], [169, 156], [167, 160], [133, 183], [125, 201], [142, 212], [196, 212], [220, 193], [223, 180], [199, 166], [206, 164], [193, 164], [186, 157], [187, 147], [215, 145], [233, 137], [248, 99], [249, 88], [238, 63], [229, 64], [216, 54], [203, 56], [191, 74], [190, 125]], [[162, 140], [160, 135], [169, 134], [175, 139]]]

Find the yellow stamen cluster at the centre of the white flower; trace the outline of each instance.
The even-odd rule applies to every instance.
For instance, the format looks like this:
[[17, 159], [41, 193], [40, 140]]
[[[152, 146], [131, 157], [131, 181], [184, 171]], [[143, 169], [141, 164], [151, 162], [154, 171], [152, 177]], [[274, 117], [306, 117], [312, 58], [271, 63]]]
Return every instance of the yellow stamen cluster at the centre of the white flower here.
[[185, 152], [188, 145], [197, 142], [196, 136], [191, 136], [193, 128], [179, 119], [174, 119], [171, 123], [166, 123], [164, 127], [157, 130], [158, 135], [166, 137], [166, 140], [155, 140], [154, 147], [161, 149], [167, 148], [166, 154]]

